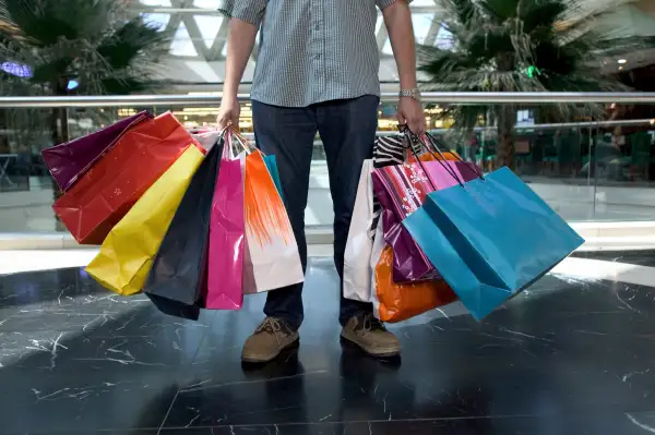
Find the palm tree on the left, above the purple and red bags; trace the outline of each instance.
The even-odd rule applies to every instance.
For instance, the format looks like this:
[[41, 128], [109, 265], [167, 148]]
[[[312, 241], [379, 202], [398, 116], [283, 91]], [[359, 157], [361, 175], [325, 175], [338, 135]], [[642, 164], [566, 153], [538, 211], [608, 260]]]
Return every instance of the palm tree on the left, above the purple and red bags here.
[[[169, 38], [128, 4], [0, 0], [0, 93], [66, 96], [152, 89]], [[67, 142], [68, 111], [53, 109], [49, 118], [52, 143]]]

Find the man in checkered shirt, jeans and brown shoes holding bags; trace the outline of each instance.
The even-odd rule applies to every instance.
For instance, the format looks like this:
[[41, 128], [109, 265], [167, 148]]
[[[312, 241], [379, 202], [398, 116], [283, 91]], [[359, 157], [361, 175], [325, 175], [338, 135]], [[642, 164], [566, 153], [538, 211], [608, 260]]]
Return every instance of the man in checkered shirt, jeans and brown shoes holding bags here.
[[[398, 69], [398, 122], [420, 134], [425, 117], [416, 88], [412, 0], [219, 0], [230, 17], [218, 124], [238, 125], [237, 93], [261, 27], [251, 88], [258, 146], [275, 155], [302, 267], [305, 208], [317, 132], [325, 147], [334, 203], [334, 262], [343, 279], [344, 251], [362, 161], [378, 128], [380, 67], [377, 9], [382, 10]], [[294, 345], [303, 318], [302, 285], [269, 292], [266, 318], [243, 346], [242, 360], [266, 362]], [[376, 357], [401, 351], [372, 305], [341, 297], [342, 337]]]

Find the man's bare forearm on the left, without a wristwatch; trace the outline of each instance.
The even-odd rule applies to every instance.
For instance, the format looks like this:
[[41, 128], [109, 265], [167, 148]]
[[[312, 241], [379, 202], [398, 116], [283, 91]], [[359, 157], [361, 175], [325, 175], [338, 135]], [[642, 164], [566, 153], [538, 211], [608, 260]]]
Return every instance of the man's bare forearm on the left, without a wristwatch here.
[[254, 25], [239, 19], [231, 19], [229, 22], [225, 82], [223, 84], [223, 93], [227, 96], [236, 96], [239, 92], [248, 58], [254, 47], [257, 31]]

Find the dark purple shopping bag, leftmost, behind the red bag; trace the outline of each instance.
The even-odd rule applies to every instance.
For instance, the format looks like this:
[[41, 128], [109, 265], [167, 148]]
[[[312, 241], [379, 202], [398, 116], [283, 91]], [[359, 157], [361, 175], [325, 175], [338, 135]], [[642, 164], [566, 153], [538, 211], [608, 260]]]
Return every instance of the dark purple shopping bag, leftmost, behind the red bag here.
[[128, 130], [150, 119], [153, 116], [142, 111], [95, 133], [44, 149], [41, 156], [59, 189], [68, 191]]

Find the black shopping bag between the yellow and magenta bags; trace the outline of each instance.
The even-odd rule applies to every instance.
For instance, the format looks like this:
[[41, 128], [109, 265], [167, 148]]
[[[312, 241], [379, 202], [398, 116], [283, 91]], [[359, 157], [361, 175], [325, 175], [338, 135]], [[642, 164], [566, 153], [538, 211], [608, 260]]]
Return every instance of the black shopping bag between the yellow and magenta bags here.
[[203, 303], [210, 216], [223, 146], [222, 137], [191, 179], [143, 289], [166, 313]]

